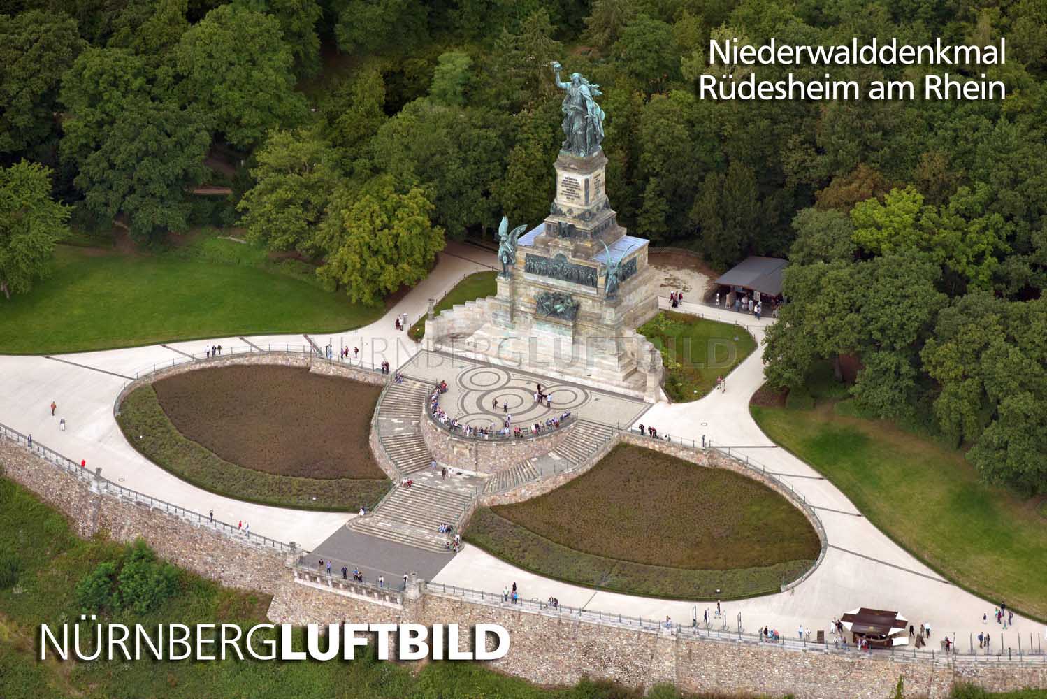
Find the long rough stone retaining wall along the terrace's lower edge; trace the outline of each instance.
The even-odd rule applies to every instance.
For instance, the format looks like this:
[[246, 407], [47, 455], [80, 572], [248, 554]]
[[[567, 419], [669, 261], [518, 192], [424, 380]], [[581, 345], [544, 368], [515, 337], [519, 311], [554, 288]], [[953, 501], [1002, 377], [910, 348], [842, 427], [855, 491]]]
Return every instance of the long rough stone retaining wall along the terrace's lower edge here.
[[[638, 439], [640, 439], [638, 437]], [[650, 446], [641, 441], [644, 446]], [[669, 445], [666, 445], [668, 448]], [[800, 699], [883, 699], [899, 676], [909, 696], [943, 698], [954, 681], [990, 691], [1047, 689], [1047, 663], [900, 660], [861, 653], [840, 655], [753, 642], [694, 639], [665, 630], [637, 630], [524, 611], [509, 604], [408, 593], [402, 607], [296, 584], [285, 557], [196, 523], [135, 504], [99, 488], [89, 473], [68, 473], [0, 441], [5, 475], [65, 513], [83, 537], [105, 531], [117, 541], [143, 538], [164, 559], [223, 585], [273, 595], [276, 623], [500, 624], [509, 654], [495, 670], [547, 684], [588, 676], [650, 686], [673, 682], [688, 692], [795, 694]]]

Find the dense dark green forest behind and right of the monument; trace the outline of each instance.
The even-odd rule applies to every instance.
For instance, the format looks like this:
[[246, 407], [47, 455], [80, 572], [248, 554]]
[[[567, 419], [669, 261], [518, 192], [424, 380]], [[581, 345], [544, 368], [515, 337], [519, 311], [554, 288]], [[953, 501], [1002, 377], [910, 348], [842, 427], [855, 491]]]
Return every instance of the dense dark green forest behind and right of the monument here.
[[[949, 68], [1006, 99], [699, 99], [700, 75], [728, 70], [710, 38], [733, 37], [1006, 37], [1005, 65]], [[422, 278], [445, 236], [544, 217], [554, 60], [601, 86], [630, 231], [716, 268], [789, 257], [773, 385], [856, 356], [870, 416], [1047, 489], [1045, 0], [0, 0], [2, 290], [31, 293], [69, 226], [162, 246], [241, 225], [373, 302]], [[190, 194], [202, 184], [232, 194]]]

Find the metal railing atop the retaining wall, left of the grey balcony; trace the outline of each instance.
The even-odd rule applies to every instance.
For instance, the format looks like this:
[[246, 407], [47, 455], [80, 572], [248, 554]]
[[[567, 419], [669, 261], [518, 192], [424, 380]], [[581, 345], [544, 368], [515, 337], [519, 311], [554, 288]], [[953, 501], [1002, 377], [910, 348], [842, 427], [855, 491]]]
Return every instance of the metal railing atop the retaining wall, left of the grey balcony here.
[[[12, 429], [6, 425], [0, 424], [0, 437], [14, 442], [17, 447], [26, 449], [29, 453], [43, 458], [48, 464], [51, 464], [59, 469], [72, 474], [73, 476], [94, 481], [97, 486], [98, 492], [104, 495], [113, 495], [115, 497], [127, 498], [132, 502], [141, 503], [160, 510], [169, 515], [174, 515], [188, 521], [191, 523], [207, 526], [217, 532], [223, 534], [235, 535], [238, 537], [243, 537], [245, 540], [251, 543], [258, 543], [263, 546], [274, 548], [280, 551], [293, 551], [295, 547], [292, 544], [284, 543], [283, 541], [277, 541], [276, 539], [270, 539], [269, 537], [263, 536], [261, 534], [254, 534], [243, 529], [240, 526], [233, 526], [228, 522], [223, 522], [221, 520], [215, 519], [209, 515], [204, 515], [199, 512], [194, 512], [186, 508], [168, 502], [166, 500], [161, 500], [155, 498], [152, 495], [147, 495], [144, 493], [139, 493], [138, 491], [131, 490], [130, 488], [125, 488], [119, 483], [115, 483], [108, 478], [88, 471], [81, 464], [75, 463], [68, 456], [65, 456], [49, 447], [40, 444], [31, 437], [31, 435], [22, 434], [18, 430]], [[101, 470], [101, 469], [99, 469]]]

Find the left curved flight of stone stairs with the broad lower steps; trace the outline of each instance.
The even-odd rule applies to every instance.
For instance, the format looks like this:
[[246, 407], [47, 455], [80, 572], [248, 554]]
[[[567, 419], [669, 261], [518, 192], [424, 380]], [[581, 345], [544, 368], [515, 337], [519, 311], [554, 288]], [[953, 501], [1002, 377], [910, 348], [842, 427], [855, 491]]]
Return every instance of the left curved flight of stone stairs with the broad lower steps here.
[[[448, 470], [447, 478], [430, 470], [432, 454], [422, 438], [422, 410], [432, 387], [404, 379], [388, 386], [377, 407], [378, 438], [396, 466], [399, 478], [375, 511], [357, 517], [350, 528], [387, 541], [426, 550], [447, 550], [452, 535], [441, 524], [454, 525], [472, 505], [483, 479]], [[400, 484], [404, 478], [410, 488]]]

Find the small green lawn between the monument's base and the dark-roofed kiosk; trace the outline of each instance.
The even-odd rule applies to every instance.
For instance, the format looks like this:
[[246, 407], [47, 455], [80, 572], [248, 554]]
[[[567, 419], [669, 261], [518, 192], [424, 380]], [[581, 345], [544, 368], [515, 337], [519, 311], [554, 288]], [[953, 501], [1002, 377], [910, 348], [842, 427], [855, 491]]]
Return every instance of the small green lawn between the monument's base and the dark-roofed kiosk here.
[[637, 330], [662, 352], [665, 392], [674, 402], [695, 401], [756, 348], [740, 325], [666, 311]]

